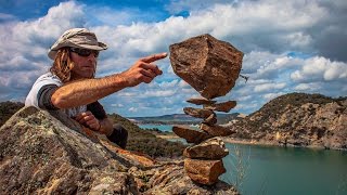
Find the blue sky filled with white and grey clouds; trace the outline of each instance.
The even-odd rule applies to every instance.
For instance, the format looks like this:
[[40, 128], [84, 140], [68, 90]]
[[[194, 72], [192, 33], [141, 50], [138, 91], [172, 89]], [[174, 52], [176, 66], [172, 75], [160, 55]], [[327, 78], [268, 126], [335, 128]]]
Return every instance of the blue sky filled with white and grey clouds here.
[[[249, 114], [290, 92], [347, 95], [347, 1], [345, 0], [0, 0], [0, 101], [24, 102], [51, 66], [47, 51], [66, 29], [86, 27], [108, 44], [98, 77], [129, 68], [139, 57], [168, 52], [190, 37], [210, 34], [245, 53], [235, 87], [218, 101]], [[164, 74], [101, 100], [107, 113], [158, 116], [182, 113], [198, 93]]]

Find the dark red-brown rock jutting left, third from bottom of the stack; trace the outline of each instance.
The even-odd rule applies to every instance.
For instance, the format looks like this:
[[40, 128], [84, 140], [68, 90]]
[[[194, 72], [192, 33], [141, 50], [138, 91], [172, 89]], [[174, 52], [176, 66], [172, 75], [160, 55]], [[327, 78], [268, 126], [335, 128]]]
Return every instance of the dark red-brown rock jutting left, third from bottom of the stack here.
[[180, 138], [185, 139], [188, 143], [201, 143], [207, 139], [210, 139], [211, 135], [203, 131], [196, 131], [189, 129], [182, 126], [174, 126], [172, 131]]

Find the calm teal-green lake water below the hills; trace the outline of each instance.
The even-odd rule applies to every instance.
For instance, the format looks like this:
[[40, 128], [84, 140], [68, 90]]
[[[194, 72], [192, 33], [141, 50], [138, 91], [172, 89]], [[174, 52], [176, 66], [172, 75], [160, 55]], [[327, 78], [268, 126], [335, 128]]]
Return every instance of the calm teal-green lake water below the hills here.
[[[151, 128], [171, 131], [171, 127]], [[236, 167], [244, 167], [245, 177], [239, 182], [242, 194], [347, 194], [347, 152], [229, 143], [226, 146], [230, 154], [223, 158], [227, 173], [220, 179], [235, 184]]]

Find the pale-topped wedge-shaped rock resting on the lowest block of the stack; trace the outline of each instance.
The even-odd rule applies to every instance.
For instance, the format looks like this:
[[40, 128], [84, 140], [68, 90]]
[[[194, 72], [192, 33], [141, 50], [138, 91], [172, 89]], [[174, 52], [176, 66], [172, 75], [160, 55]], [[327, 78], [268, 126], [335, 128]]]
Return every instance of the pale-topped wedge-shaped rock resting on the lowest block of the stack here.
[[185, 157], [194, 159], [221, 159], [228, 154], [228, 148], [220, 138], [211, 138], [198, 145], [187, 147], [183, 152]]

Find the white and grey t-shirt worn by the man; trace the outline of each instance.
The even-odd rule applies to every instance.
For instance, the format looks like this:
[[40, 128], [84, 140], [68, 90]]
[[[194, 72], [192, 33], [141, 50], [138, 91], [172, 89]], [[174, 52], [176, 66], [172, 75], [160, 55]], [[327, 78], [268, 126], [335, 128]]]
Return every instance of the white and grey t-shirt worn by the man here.
[[[57, 87], [61, 87], [63, 86], [63, 82], [59, 77], [56, 77], [52, 73], [47, 73], [40, 76], [33, 84], [33, 88], [29, 91], [29, 94], [26, 96], [25, 106], [35, 106], [37, 108], [40, 108], [38, 105], [38, 93], [40, 89], [47, 84], [55, 84]], [[75, 117], [76, 115], [86, 112], [87, 106], [82, 105], [82, 106], [77, 106], [77, 107], [62, 109], [62, 110], [65, 112], [66, 115], [68, 115], [69, 117]]]

